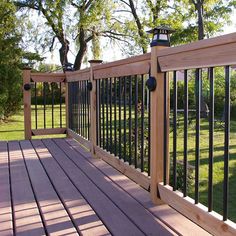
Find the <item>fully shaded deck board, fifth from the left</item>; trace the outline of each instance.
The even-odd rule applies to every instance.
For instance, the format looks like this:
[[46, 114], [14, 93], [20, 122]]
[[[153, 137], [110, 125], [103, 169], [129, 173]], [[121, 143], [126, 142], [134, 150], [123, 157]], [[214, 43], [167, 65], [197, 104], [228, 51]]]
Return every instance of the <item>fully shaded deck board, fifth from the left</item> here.
[[[114, 235], [144, 235], [110, 199], [52, 141], [43, 140], [55, 159], [61, 163], [73, 183], [80, 189], [106, 227]], [[64, 146], [61, 146], [64, 149]]]

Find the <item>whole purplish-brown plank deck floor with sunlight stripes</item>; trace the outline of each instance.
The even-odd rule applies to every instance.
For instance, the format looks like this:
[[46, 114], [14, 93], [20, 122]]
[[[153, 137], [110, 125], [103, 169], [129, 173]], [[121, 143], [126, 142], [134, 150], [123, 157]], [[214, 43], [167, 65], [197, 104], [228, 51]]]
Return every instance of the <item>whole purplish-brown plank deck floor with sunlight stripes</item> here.
[[208, 235], [72, 139], [0, 142], [0, 235]]

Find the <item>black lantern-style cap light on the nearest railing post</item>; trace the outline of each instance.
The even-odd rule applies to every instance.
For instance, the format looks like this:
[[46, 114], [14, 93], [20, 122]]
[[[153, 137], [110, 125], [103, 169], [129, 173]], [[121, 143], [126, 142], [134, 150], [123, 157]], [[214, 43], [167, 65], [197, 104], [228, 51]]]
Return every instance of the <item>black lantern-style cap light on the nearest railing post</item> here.
[[148, 30], [147, 33], [153, 35], [151, 47], [154, 47], [154, 46], [170, 47], [170, 34], [173, 32], [174, 30], [166, 26], [160, 26], [160, 27], [156, 27], [154, 29]]

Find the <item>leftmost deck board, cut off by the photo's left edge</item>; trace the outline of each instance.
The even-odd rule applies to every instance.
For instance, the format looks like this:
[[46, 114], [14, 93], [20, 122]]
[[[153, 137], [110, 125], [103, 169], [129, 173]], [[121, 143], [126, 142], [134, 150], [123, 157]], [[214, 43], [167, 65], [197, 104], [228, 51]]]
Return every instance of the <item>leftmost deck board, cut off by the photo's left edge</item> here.
[[7, 142], [0, 142], [0, 235], [13, 235]]

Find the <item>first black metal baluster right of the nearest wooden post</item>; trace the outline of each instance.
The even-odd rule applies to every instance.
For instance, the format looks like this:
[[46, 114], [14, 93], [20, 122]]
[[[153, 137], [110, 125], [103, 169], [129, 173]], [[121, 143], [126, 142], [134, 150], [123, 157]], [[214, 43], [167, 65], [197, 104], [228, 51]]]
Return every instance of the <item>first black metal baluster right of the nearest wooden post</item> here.
[[173, 91], [173, 190], [177, 190], [177, 75], [174, 71], [174, 91]]

